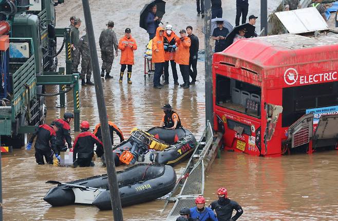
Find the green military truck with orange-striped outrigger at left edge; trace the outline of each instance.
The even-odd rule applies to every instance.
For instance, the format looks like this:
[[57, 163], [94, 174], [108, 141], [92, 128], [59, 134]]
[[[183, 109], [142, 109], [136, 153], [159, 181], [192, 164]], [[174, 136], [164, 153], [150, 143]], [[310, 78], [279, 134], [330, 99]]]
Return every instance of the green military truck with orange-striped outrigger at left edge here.
[[[64, 107], [65, 93], [71, 90], [74, 130], [79, 130], [79, 75], [70, 73], [70, 28], [55, 28], [54, 8], [62, 3], [64, 0], [0, 0], [1, 144], [13, 148], [25, 145], [34, 127], [44, 123], [45, 97], [60, 95], [60, 106]], [[60, 39], [63, 44], [57, 49]], [[58, 69], [57, 55], [63, 48], [66, 68]], [[47, 95], [45, 85], [60, 85], [60, 92]]]

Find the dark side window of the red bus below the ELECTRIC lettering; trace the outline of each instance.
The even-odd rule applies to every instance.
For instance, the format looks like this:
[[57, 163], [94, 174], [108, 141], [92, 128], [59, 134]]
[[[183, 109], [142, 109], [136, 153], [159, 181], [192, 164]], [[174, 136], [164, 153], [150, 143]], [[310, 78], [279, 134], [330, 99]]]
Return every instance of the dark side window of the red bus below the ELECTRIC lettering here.
[[281, 124], [290, 126], [306, 109], [338, 105], [338, 82], [283, 88]]

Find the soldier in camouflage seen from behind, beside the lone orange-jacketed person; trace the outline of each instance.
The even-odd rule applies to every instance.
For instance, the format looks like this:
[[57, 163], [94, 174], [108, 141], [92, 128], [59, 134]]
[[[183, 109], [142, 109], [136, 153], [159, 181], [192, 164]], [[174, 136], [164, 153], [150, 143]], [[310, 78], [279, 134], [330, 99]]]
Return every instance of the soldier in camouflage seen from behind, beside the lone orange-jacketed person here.
[[[101, 48], [101, 59], [102, 63], [102, 71], [101, 77], [105, 79], [112, 78], [109, 75], [111, 70], [112, 62], [114, 61], [114, 49], [115, 49], [115, 56], [118, 56], [118, 41], [116, 38], [115, 32], [112, 30], [114, 28], [114, 22], [109, 21], [107, 23], [107, 29], [103, 30], [100, 35], [100, 48]], [[106, 75], [104, 76], [104, 71], [106, 71]]]

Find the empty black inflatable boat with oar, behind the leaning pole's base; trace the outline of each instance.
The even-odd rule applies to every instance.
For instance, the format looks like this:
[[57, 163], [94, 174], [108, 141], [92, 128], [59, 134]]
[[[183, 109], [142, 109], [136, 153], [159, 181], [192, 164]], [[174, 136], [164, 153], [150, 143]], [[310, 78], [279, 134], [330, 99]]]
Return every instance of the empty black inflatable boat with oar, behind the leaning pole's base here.
[[[176, 173], [169, 165], [140, 163], [117, 172], [123, 207], [151, 201], [173, 190]], [[44, 200], [52, 206], [95, 205], [111, 209], [107, 175], [62, 183], [51, 188]]]

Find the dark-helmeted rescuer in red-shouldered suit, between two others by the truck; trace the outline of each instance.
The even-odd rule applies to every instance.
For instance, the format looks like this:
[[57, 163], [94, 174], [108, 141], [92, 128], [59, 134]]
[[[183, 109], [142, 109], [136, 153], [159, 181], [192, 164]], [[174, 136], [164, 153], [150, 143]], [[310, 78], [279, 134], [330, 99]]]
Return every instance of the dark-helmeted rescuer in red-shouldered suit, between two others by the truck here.
[[62, 125], [61, 129], [57, 132], [57, 149], [59, 155], [60, 152], [67, 151], [67, 146], [65, 145], [66, 142], [69, 149], [72, 147], [70, 137], [70, 121], [72, 118], [74, 118], [74, 115], [70, 112], [67, 112], [63, 115], [63, 118], [64, 119], [54, 120]]

